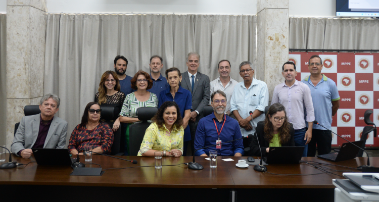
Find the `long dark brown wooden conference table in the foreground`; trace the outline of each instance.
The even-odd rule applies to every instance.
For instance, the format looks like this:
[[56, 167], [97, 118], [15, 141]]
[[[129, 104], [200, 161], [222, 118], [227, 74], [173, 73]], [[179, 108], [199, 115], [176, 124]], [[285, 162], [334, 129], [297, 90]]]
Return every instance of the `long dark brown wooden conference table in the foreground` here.
[[[80, 158], [80, 162], [87, 164], [86, 167], [101, 166], [105, 171], [102, 176], [72, 176], [70, 174], [73, 169], [69, 166], [39, 166], [33, 162], [26, 167], [0, 170], [0, 190], [9, 196], [17, 196], [18, 200], [39, 195], [45, 200], [58, 201], [72, 198], [86, 201], [334, 201], [335, 186], [332, 179], [343, 178], [338, 176], [342, 172], [333, 172], [338, 175], [322, 173], [323, 171], [306, 163], [271, 164], [266, 166], [267, 172], [257, 172], [253, 170], [254, 166], [235, 166], [238, 160], [246, 157], [217, 157], [217, 168], [210, 168], [209, 161], [204, 157], [196, 157], [196, 162], [203, 165], [203, 170], [190, 170], [183, 164], [192, 162], [192, 157], [163, 157], [162, 169], [155, 169], [154, 158], [117, 157], [136, 160], [138, 163], [134, 165], [94, 155], [92, 161], [85, 162], [84, 158]], [[22, 159], [13, 155], [12, 158], [22, 164], [35, 161], [33, 156]], [[234, 161], [226, 162], [222, 159]], [[378, 167], [377, 160], [379, 158], [370, 158], [371, 165]], [[367, 158], [333, 163], [316, 157], [303, 157], [302, 161], [330, 164], [325, 167], [346, 170], [344, 172], [359, 172], [335, 165], [356, 168], [365, 165]]]

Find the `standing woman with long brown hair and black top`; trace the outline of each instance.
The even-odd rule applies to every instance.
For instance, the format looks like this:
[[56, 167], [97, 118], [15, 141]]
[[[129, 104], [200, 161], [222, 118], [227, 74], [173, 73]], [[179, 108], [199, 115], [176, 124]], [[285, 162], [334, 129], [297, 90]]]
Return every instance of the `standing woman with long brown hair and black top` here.
[[[100, 106], [112, 106], [115, 107], [115, 114], [121, 112], [122, 104], [124, 103], [125, 94], [120, 91], [120, 80], [117, 77], [116, 72], [106, 71], [104, 72], [100, 84], [99, 92], [96, 93], [94, 102], [99, 103]], [[120, 128], [120, 118], [118, 117], [114, 123], [112, 130], [117, 131]]]

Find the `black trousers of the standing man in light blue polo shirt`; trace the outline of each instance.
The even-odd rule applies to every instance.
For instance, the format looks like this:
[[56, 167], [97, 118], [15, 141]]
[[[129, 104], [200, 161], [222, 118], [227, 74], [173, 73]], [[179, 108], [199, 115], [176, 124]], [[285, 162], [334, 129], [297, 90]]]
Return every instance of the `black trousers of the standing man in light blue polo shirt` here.
[[312, 130], [312, 139], [308, 143], [308, 157], [316, 156], [316, 143], [318, 155], [329, 154], [331, 151], [331, 132], [328, 130]]

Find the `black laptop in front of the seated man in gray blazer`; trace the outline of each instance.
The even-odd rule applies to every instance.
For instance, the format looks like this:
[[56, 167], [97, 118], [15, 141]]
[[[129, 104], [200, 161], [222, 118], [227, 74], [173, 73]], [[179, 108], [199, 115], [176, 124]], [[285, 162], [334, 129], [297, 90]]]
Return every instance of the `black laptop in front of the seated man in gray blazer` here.
[[38, 165], [71, 166], [72, 161], [67, 148], [32, 148]]

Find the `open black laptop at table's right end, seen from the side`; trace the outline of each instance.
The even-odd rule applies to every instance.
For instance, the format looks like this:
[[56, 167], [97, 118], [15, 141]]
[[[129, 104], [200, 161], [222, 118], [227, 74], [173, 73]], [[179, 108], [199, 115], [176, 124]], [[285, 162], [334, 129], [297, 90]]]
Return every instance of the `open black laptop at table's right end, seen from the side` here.
[[[355, 141], [352, 143], [354, 143], [355, 145], [357, 145], [359, 147], [360, 145], [362, 145], [363, 141], [364, 140], [359, 140], [359, 141]], [[352, 143], [350, 143], [350, 142], [343, 143], [341, 148], [340, 148], [339, 153], [336, 152], [336, 153], [330, 153], [330, 154], [326, 154], [326, 155], [318, 155], [317, 157], [320, 159], [324, 159], [327, 161], [333, 161], [333, 162], [339, 162], [339, 161], [354, 159], [357, 156], [358, 151], [360, 149]]]

